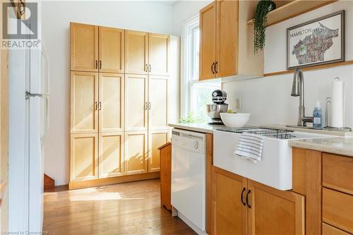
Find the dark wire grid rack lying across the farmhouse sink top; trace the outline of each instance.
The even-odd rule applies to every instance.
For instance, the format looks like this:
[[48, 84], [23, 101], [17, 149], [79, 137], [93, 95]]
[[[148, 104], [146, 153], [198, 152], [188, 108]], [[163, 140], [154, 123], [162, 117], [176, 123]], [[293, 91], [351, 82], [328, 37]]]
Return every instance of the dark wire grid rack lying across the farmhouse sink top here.
[[295, 138], [292, 135], [293, 131], [274, 129], [274, 128], [261, 128], [261, 127], [244, 127], [244, 128], [217, 128], [217, 131], [227, 131], [233, 133], [251, 133], [255, 135], [262, 135], [269, 138], [277, 138], [282, 140], [288, 140]]

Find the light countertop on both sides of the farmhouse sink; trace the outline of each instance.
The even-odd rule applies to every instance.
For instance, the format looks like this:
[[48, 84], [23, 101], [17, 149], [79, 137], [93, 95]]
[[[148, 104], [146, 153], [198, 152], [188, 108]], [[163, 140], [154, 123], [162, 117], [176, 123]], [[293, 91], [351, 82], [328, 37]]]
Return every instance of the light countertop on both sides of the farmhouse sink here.
[[[169, 123], [174, 128], [184, 129], [187, 131], [197, 131], [201, 133], [213, 133], [213, 130], [223, 125], [208, 125], [207, 123]], [[318, 133], [323, 135], [337, 135], [333, 138], [315, 138], [304, 140], [289, 140], [292, 147], [301, 147], [309, 150], [321, 152], [330, 152], [337, 155], [345, 155], [353, 157], [353, 133], [342, 133], [338, 131], [313, 130], [307, 128], [287, 128], [280, 125], [261, 125], [268, 128], [286, 128], [291, 131], [302, 131], [309, 133]], [[339, 137], [338, 137], [339, 136]]]

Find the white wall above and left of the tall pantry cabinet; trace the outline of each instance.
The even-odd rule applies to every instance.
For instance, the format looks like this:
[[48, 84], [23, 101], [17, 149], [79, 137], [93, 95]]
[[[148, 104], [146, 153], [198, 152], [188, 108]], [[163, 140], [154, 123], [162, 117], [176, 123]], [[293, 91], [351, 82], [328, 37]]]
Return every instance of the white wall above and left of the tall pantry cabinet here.
[[88, 23], [171, 35], [172, 16], [172, 5], [157, 1], [43, 2], [42, 38], [51, 75], [50, 127], [44, 143], [44, 171], [55, 179], [56, 185], [68, 183], [69, 23]]

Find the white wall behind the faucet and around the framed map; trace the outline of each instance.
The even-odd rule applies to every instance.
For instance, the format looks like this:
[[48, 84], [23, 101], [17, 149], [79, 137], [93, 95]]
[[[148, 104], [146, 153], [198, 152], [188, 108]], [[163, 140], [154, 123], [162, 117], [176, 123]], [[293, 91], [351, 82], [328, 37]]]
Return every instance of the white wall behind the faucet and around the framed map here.
[[[296, 18], [286, 20], [266, 30], [265, 73], [286, 70], [286, 29], [308, 20], [346, 10], [346, 60], [353, 59], [353, 1], [337, 1]], [[345, 126], [353, 127], [353, 66], [339, 66], [304, 72], [306, 115], [311, 116], [316, 101], [331, 96], [333, 78], [341, 78], [346, 85]], [[270, 76], [252, 80], [224, 83], [228, 102], [234, 109], [236, 97], [242, 104], [239, 112], [250, 112], [249, 124], [296, 124], [299, 98], [291, 97], [293, 74]]]

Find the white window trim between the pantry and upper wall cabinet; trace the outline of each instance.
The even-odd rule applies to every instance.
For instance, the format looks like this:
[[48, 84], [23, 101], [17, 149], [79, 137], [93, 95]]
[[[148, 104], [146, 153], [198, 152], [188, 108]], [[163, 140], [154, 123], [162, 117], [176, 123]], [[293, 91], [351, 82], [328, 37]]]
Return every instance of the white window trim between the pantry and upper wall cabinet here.
[[190, 80], [192, 76], [191, 68], [191, 53], [189, 49], [192, 45], [191, 32], [199, 27], [199, 15], [193, 16], [184, 21], [183, 30], [181, 31], [181, 79], [180, 79], [180, 116], [184, 118], [191, 110], [191, 88], [190, 83], [195, 83], [195, 80]]

